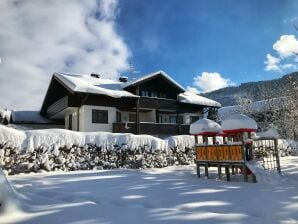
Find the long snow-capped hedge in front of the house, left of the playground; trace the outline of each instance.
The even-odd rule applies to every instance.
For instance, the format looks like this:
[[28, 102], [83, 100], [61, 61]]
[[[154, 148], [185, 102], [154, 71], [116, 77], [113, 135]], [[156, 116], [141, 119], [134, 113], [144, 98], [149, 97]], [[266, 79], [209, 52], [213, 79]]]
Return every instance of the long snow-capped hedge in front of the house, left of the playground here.
[[190, 164], [193, 146], [194, 138], [187, 135], [162, 140], [150, 135], [21, 131], [0, 126], [0, 166], [9, 174]]

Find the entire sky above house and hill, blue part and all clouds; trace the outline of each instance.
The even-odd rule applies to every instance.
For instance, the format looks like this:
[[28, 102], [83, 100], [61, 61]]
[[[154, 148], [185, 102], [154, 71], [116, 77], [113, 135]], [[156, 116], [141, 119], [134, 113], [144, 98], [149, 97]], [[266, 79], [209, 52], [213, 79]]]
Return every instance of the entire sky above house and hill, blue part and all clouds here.
[[297, 0], [1, 0], [0, 108], [39, 109], [54, 72], [130, 63], [195, 92], [278, 78], [298, 70], [294, 25]]

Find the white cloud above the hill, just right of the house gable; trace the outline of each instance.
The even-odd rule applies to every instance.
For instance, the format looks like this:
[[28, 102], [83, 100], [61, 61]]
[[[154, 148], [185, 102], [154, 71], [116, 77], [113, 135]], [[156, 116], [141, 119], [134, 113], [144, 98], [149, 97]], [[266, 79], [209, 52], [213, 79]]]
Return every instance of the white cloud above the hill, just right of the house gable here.
[[[235, 83], [231, 82], [230, 79], [223, 78], [217, 72], [203, 72], [193, 78], [193, 87], [198, 88], [202, 92], [210, 92], [227, 86], [234, 86]], [[193, 87], [188, 87], [188, 90], [195, 92]]]

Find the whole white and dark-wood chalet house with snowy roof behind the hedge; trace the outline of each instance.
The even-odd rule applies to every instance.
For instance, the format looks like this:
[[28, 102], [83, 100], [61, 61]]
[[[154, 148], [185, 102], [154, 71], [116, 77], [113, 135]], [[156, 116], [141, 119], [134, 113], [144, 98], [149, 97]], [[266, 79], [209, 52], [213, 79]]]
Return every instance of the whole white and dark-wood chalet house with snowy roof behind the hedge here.
[[221, 105], [185, 89], [163, 71], [118, 81], [98, 74], [54, 73], [41, 115], [76, 131], [166, 136], [189, 133], [189, 124]]

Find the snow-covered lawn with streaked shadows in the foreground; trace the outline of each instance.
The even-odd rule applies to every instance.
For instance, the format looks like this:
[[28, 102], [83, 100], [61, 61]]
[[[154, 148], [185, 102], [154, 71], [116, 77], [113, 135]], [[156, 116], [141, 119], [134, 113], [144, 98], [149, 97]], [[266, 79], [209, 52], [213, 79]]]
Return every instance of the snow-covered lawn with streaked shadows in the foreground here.
[[282, 169], [256, 184], [198, 179], [194, 166], [10, 176], [20, 208], [0, 223], [298, 223], [298, 157]]

